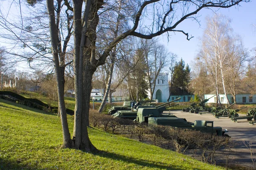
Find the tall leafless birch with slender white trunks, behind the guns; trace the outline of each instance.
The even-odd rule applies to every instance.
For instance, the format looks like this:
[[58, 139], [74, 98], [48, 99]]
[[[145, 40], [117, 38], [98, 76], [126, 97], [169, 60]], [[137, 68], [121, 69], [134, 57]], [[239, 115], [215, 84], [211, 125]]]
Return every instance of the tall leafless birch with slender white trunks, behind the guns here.
[[203, 59], [212, 77], [215, 77], [217, 96], [218, 77], [221, 78], [223, 91], [229, 104], [226, 88], [228, 65], [232, 62], [231, 56], [236, 46], [236, 41], [231, 38], [232, 28], [230, 27], [230, 20], [218, 14], [215, 14], [213, 17], [207, 17], [207, 28], [204, 33], [202, 49], [198, 57]]

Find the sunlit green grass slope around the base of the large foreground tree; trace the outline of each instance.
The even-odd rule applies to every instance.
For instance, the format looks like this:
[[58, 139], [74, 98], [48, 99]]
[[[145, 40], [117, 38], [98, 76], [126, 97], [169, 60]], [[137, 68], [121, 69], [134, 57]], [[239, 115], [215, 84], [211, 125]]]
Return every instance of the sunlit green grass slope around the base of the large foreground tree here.
[[[73, 116], [68, 116], [70, 131]], [[188, 156], [89, 128], [99, 153], [60, 149], [55, 114], [0, 99], [0, 169], [218, 170]]]

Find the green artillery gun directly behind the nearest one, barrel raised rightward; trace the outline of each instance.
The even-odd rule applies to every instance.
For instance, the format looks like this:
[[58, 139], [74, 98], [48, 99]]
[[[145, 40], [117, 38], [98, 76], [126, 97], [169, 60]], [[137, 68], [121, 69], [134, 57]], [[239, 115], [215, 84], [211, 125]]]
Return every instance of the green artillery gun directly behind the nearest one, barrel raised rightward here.
[[177, 98], [177, 99], [172, 100], [170, 102], [163, 103], [163, 104], [158, 105], [156, 107], [154, 107], [154, 106], [139, 105], [136, 108], [134, 108], [132, 111], [117, 111], [112, 116], [113, 117], [118, 117], [118, 118], [125, 118], [125, 119], [132, 119], [132, 120], [134, 120], [137, 117], [137, 110], [140, 109], [140, 108], [155, 108], [155, 109], [157, 109], [159, 111], [159, 113], [163, 113], [163, 111], [166, 111], [167, 108], [171, 108], [173, 106], [177, 106], [178, 104], [171, 105], [171, 106], [168, 106], [168, 107], [166, 107], [165, 105], [167, 105], [167, 104], [169, 104], [171, 102], [175, 102], [177, 100], [180, 100], [180, 98]]

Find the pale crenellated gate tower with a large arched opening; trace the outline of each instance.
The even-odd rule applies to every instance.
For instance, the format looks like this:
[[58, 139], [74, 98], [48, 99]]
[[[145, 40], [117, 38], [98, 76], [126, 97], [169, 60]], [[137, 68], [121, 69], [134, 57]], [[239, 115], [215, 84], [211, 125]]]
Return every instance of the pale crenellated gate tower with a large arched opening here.
[[[151, 78], [151, 83], [152, 83]], [[150, 91], [147, 91], [148, 98], [151, 98]], [[167, 102], [169, 97], [169, 82], [168, 82], [168, 73], [159, 74], [156, 81], [156, 86], [153, 93], [153, 100], [158, 100], [158, 102]]]

